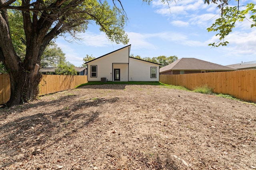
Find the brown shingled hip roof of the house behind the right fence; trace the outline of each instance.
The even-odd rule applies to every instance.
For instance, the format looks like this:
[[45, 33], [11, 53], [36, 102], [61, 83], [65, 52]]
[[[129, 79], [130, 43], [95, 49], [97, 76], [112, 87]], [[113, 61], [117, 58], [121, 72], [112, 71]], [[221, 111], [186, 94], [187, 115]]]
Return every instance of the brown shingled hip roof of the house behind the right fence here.
[[231, 71], [236, 70], [227, 66], [222, 66], [208, 61], [203, 61], [195, 58], [181, 58], [173, 63], [160, 68], [161, 72], [170, 70], [216, 70], [216, 71]]

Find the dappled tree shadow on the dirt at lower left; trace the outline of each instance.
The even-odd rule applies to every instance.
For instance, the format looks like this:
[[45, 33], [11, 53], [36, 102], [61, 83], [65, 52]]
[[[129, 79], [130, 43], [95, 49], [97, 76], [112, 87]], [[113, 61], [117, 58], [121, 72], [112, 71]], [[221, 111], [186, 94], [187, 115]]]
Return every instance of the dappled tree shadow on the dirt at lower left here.
[[[85, 110], [92, 106], [98, 107], [102, 104], [114, 103], [119, 100], [119, 98], [100, 98], [93, 101], [86, 100], [69, 103], [76, 97], [75, 95], [62, 96], [57, 100], [38, 102], [32, 105], [27, 104], [22, 108], [14, 109], [14, 111], [11, 111], [12, 113], [8, 113], [26, 115], [26, 110], [35, 110], [33, 115], [18, 116], [16, 120], [0, 125], [0, 160], [4, 160], [0, 168], [37, 154], [40, 151], [36, 150], [36, 148], [40, 146], [47, 148], [59, 143], [70, 134], [76, 133], [97, 121], [101, 114], [99, 111], [86, 112], [81, 109]], [[70, 105], [64, 107], [66, 103]], [[46, 111], [45, 109], [48, 106], [56, 106], [59, 109]], [[74, 125], [74, 121], [78, 123]]]

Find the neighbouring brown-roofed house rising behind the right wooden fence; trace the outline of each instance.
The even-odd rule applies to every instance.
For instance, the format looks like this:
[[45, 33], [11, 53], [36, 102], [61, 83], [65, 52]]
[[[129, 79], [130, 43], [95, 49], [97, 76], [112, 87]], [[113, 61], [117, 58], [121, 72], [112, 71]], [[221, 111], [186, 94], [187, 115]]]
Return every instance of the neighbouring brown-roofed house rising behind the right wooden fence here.
[[189, 74], [234, 70], [236, 69], [195, 58], [181, 58], [160, 68], [160, 74]]

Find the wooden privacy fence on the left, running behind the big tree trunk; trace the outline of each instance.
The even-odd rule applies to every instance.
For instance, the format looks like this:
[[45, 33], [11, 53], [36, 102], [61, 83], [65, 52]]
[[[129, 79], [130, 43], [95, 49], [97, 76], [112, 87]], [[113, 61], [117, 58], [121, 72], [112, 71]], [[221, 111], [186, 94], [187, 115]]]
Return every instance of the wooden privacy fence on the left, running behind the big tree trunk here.
[[[42, 75], [39, 83], [39, 96], [72, 89], [87, 83], [87, 76]], [[0, 104], [5, 104], [10, 98], [9, 74], [0, 74]]]

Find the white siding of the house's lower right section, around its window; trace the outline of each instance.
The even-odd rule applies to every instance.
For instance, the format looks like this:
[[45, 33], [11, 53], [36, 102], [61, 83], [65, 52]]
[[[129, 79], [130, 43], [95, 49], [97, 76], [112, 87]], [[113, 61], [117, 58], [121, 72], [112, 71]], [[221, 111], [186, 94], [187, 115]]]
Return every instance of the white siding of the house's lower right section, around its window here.
[[[129, 58], [129, 81], [159, 82], [159, 65]], [[150, 67], [156, 67], [156, 78], [150, 78]]]

